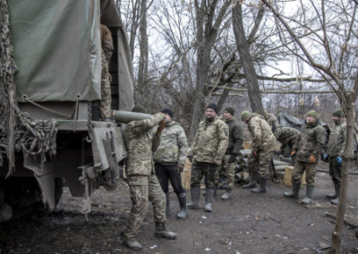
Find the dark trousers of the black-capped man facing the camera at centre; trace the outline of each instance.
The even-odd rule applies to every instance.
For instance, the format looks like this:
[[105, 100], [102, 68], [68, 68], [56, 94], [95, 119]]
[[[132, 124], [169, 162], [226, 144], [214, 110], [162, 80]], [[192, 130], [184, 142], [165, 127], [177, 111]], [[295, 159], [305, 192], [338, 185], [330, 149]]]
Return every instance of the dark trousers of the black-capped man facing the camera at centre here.
[[202, 177], [205, 175], [205, 186], [208, 189], [215, 189], [215, 178], [220, 165], [194, 160], [192, 163], [191, 186], [200, 187]]

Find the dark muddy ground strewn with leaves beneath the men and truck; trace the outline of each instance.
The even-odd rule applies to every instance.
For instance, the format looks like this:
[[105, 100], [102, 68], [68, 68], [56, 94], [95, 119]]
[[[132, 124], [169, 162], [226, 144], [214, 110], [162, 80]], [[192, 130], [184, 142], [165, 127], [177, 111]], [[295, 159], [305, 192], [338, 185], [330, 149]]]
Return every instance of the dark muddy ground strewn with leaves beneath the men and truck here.
[[[253, 194], [237, 184], [229, 201], [220, 199], [224, 190], [219, 190], [212, 213], [190, 210], [184, 220], [175, 218], [179, 205], [172, 192], [172, 213], [166, 227], [177, 233], [177, 239], [154, 237], [149, 205], [138, 235], [143, 245], [141, 253], [318, 253], [314, 249], [331, 244], [335, 219], [328, 214], [336, 215], [337, 207], [325, 198], [333, 190], [328, 174], [317, 174], [312, 207], [284, 198], [283, 192], [290, 187], [283, 183], [269, 182], [268, 188], [265, 194]], [[345, 225], [344, 253], [358, 253], [353, 229], [358, 224], [354, 219], [358, 216], [357, 190], [358, 175], [350, 175], [346, 215], [353, 218], [349, 220], [351, 226]], [[302, 197], [304, 193], [303, 187]], [[203, 200], [201, 197], [201, 204]], [[123, 247], [121, 241], [120, 233], [131, 207], [125, 184], [112, 192], [101, 189], [92, 194], [89, 221], [78, 212], [80, 201], [72, 198], [65, 188], [60, 204], [51, 215], [22, 216], [0, 224], [0, 253], [138, 253]]]

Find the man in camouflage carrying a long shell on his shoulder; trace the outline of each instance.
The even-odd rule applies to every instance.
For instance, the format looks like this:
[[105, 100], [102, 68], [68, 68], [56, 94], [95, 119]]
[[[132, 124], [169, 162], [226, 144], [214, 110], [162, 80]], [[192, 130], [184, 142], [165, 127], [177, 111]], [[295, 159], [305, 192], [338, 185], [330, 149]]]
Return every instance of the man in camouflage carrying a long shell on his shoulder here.
[[[134, 106], [132, 112], [146, 113], [142, 106]], [[166, 127], [165, 114], [158, 113], [149, 119], [132, 121], [124, 129], [124, 142], [128, 151], [125, 173], [131, 192], [132, 209], [123, 245], [132, 250], [141, 250], [141, 243], [134, 239], [147, 212], [148, 200], [153, 205], [156, 237], [175, 239], [175, 233], [166, 230], [166, 196], [154, 174], [152, 153], [160, 143], [161, 131]], [[158, 130], [155, 126], [159, 124]]]

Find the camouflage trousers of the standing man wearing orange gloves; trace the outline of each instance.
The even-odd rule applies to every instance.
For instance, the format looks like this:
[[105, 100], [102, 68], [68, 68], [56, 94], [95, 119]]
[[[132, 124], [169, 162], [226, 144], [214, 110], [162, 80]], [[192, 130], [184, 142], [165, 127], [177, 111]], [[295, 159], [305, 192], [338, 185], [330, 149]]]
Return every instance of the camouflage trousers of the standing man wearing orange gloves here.
[[301, 184], [301, 179], [304, 171], [306, 171], [307, 185], [314, 186], [315, 176], [317, 173], [317, 164], [310, 164], [309, 162], [303, 162], [297, 159], [294, 163], [294, 173], [292, 174], [292, 182]]

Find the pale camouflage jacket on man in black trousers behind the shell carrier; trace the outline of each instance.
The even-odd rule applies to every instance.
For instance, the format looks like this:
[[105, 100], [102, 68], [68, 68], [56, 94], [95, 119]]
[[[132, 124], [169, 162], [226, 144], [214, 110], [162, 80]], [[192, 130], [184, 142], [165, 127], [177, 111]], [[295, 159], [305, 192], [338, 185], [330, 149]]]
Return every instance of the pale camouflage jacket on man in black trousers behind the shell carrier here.
[[160, 146], [154, 154], [158, 164], [185, 164], [188, 141], [179, 123], [167, 123], [160, 137]]

